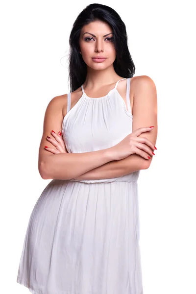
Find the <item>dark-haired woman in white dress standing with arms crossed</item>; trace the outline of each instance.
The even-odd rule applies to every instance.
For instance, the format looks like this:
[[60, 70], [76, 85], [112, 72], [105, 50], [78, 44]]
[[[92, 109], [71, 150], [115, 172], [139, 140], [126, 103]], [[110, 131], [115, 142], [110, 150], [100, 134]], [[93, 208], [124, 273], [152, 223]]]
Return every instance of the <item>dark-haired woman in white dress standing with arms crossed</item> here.
[[156, 87], [133, 77], [125, 25], [108, 6], [78, 15], [70, 47], [71, 93], [49, 102], [39, 150], [52, 180], [17, 282], [33, 294], [142, 294], [137, 180], [156, 149]]

